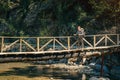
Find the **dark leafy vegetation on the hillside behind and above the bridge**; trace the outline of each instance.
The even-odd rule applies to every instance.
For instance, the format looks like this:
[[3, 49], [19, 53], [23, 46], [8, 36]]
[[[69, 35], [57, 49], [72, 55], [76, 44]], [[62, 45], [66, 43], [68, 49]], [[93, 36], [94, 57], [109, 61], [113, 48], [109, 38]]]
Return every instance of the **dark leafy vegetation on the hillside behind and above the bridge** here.
[[119, 0], [0, 0], [0, 35], [73, 35], [120, 32]]

